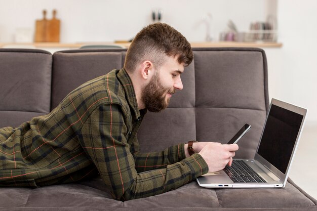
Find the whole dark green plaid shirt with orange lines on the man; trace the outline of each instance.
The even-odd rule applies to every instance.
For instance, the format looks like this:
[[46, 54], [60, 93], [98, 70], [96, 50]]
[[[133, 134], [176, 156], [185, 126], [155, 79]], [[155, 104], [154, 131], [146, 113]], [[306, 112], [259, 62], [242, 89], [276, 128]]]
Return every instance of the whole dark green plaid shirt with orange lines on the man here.
[[184, 144], [140, 153], [132, 81], [112, 70], [72, 91], [49, 114], [0, 129], [0, 186], [38, 187], [100, 174], [113, 198], [129, 200], [176, 189], [208, 172], [185, 158]]

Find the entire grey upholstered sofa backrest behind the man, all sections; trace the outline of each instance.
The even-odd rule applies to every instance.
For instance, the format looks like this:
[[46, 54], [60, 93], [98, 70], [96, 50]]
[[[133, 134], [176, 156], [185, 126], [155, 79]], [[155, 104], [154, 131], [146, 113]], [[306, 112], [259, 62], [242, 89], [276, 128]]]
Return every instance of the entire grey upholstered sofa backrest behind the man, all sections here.
[[[183, 90], [167, 109], [148, 112], [138, 138], [141, 151], [162, 150], [189, 140], [226, 143], [244, 123], [252, 125], [236, 157], [254, 155], [268, 109], [263, 50], [193, 49], [181, 75]], [[49, 113], [82, 83], [122, 68], [126, 50], [0, 49], [0, 127], [18, 126]], [[53, 64], [53, 67], [52, 67]]]

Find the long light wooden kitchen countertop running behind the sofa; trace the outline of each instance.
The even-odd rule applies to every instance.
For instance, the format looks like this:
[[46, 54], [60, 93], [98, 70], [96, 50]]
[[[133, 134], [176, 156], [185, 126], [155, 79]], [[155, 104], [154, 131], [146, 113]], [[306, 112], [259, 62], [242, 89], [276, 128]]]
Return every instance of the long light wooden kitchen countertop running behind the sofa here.
[[[78, 49], [84, 45], [121, 45], [125, 48], [129, 48], [130, 43], [127, 42], [115, 42], [115, 43], [74, 43], [74, 44], [65, 44], [65, 43], [0, 43], [0, 48], [65, 48], [65, 49]], [[246, 43], [246, 42], [234, 42], [234, 41], [220, 41], [220, 42], [192, 42], [190, 43], [193, 48], [220, 48], [220, 47], [246, 47], [246, 48], [281, 48], [282, 43]]]

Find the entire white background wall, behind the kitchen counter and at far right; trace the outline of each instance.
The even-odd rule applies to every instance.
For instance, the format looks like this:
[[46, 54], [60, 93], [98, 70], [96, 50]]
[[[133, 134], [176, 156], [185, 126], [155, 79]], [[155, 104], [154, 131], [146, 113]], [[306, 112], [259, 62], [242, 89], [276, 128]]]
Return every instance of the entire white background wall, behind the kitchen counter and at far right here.
[[308, 108], [308, 122], [317, 125], [315, 0], [0, 0], [0, 43], [14, 41], [16, 28], [34, 31], [43, 9], [48, 10], [48, 18], [57, 9], [62, 22], [61, 43], [127, 40], [151, 23], [151, 10], [156, 8], [163, 10], [163, 22], [189, 41], [204, 41], [202, 20], [207, 13], [213, 16], [211, 29], [216, 39], [229, 19], [243, 31], [250, 22], [264, 21], [267, 15], [277, 13], [283, 48], [265, 49], [269, 97]]

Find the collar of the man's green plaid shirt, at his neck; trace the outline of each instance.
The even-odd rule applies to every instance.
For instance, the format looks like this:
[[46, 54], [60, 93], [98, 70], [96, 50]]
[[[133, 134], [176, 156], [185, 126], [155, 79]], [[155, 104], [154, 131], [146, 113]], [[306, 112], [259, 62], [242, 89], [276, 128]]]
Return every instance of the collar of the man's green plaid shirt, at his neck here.
[[123, 89], [125, 90], [127, 101], [130, 107], [134, 111], [135, 118], [140, 119], [141, 113], [142, 115], [144, 115], [146, 113], [146, 109], [139, 110], [133, 83], [131, 81], [129, 74], [127, 73], [125, 68], [122, 68], [121, 70], [118, 71], [116, 75], [117, 75], [117, 78], [120, 80]]

